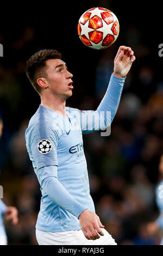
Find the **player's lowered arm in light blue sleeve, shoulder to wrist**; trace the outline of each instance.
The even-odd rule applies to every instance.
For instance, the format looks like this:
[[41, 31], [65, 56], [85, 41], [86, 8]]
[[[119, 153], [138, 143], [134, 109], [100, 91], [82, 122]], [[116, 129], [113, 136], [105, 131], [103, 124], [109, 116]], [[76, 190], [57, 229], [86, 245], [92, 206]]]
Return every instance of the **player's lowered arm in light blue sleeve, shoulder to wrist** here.
[[[46, 121], [43, 125], [42, 129], [42, 123], [35, 124], [30, 132], [26, 133], [27, 145], [28, 143], [30, 144], [30, 147], [27, 148], [28, 151], [32, 152], [37, 178], [42, 190], [46, 192], [52, 200], [78, 217], [86, 208], [68, 193], [57, 178], [57, 147], [59, 135], [57, 131], [53, 129], [51, 123]], [[43, 139], [48, 140], [52, 145], [51, 150], [47, 154], [42, 154], [42, 151], [38, 148], [40, 141]]]

